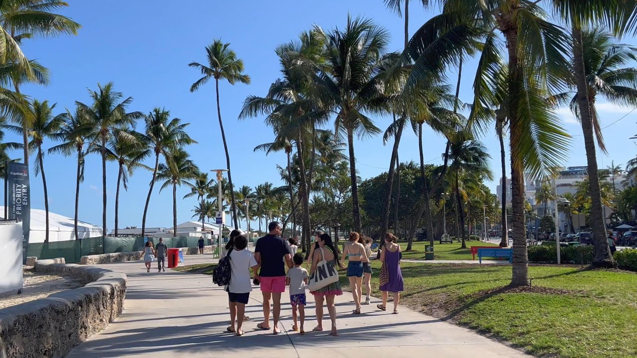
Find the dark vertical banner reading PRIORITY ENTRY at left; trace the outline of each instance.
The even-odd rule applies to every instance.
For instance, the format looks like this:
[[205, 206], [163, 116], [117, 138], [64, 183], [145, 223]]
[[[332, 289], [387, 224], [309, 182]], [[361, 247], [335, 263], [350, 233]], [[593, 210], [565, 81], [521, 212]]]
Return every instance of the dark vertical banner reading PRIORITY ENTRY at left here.
[[31, 232], [31, 196], [29, 196], [29, 166], [7, 163], [6, 185], [8, 219], [22, 222], [22, 263], [27, 262], [27, 247]]

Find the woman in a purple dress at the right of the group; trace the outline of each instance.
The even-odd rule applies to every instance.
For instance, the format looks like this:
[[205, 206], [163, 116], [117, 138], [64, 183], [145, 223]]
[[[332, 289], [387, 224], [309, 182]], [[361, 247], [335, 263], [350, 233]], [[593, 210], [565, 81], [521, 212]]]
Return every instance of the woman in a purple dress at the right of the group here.
[[384, 266], [383, 268], [381, 268], [380, 273], [380, 290], [383, 292], [383, 303], [378, 304], [376, 307], [378, 307], [378, 309], [382, 311], [387, 310], [387, 292], [393, 292], [394, 315], [398, 314], [400, 292], [404, 290], [403, 274], [400, 271], [401, 255], [402, 254], [400, 251], [400, 245], [396, 243], [396, 236], [391, 233], [385, 234], [385, 245], [380, 252], [380, 261], [383, 263]]

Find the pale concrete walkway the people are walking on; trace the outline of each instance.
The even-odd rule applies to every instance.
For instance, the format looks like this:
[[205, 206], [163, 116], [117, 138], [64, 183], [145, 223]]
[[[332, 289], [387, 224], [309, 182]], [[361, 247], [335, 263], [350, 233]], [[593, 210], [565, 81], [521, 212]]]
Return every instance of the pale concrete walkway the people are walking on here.
[[[187, 255], [185, 264], [211, 262], [210, 255]], [[484, 338], [468, 329], [415, 313], [404, 306], [400, 313], [376, 309], [374, 299], [362, 306], [363, 315], [353, 315], [351, 295], [337, 301], [339, 337], [327, 332], [299, 336], [292, 327], [289, 296], [283, 296], [283, 333], [257, 331], [262, 319], [261, 293], [252, 291], [245, 322], [245, 336], [225, 333], [229, 313], [226, 293], [213, 285], [211, 276], [166, 270], [147, 273], [143, 262], [118, 262], [101, 267], [128, 275], [124, 312], [116, 322], [79, 345], [67, 356], [161, 358], [184, 356], [241, 358], [312, 357], [530, 357], [518, 350]], [[391, 307], [391, 306], [390, 306]], [[390, 308], [388, 307], [388, 308]], [[306, 331], [315, 327], [313, 297], [308, 295]]]

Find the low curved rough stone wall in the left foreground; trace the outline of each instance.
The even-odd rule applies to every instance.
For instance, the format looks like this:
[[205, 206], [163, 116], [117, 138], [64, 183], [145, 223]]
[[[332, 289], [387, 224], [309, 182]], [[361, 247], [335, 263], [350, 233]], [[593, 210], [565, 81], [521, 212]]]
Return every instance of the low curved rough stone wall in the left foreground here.
[[64, 357], [122, 313], [124, 273], [55, 260], [36, 261], [35, 270], [88, 283], [0, 310], [0, 357]]

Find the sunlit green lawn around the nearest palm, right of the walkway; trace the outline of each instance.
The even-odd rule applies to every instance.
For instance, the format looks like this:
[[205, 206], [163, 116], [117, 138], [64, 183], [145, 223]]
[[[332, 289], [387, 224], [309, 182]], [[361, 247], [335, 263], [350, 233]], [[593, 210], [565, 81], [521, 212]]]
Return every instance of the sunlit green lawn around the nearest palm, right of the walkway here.
[[[511, 266], [403, 263], [401, 301], [541, 357], [637, 357], [637, 275], [531, 266], [533, 288], [508, 285]], [[379, 262], [372, 287], [378, 292]], [[341, 283], [347, 286], [347, 278]]]

